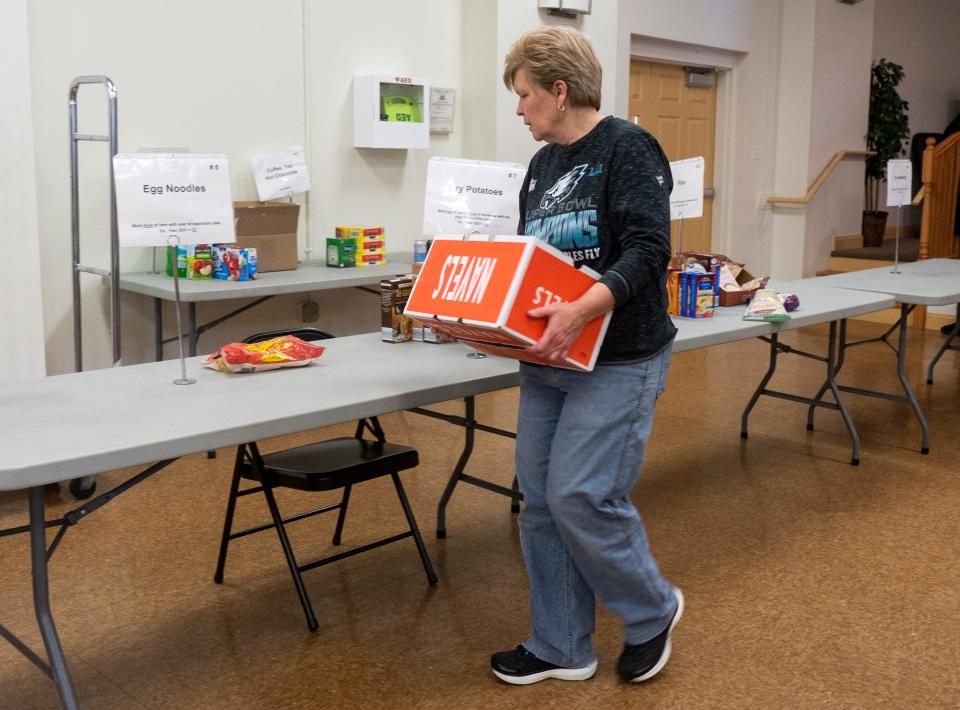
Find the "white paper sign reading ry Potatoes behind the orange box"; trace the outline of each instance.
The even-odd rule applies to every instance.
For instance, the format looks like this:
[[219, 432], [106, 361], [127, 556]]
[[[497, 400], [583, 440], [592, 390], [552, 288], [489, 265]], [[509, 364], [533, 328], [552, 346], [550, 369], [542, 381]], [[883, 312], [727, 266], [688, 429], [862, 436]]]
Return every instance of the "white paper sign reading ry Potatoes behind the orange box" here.
[[524, 168], [458, 158], [431, 158], [423, 202], [423, 233], [515, 234]]

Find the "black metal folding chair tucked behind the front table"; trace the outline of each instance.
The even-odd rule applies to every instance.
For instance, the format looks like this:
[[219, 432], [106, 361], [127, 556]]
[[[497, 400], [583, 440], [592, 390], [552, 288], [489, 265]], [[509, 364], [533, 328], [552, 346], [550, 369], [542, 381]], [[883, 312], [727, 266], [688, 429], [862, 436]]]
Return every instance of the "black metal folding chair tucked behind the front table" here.
[[[315, 328], [298, 328], [258, 333], [245, 339], [244, 342], [258, 343], [281, 335], [296, 335], [303, 340], [324, 340], [333, 337], [329, 333]], [[363, 438], [364, 432], [369, 432], [374, 439]], [[261, 456], [256, 442], [242, 444], [237, 447], [233, 480], [230, 484], [230, 496], [227, 499], [227, 513], [223, 522], [223, 536], [220, 539], [217, 571], [213, 577], [214, 582], [217, 584], [223, 582], [223, 568], [227, 559], [227, 547], [231, 540], [273, 528], [280, 538], [280, 546], [283, 548], [287, 566], [290, 568], [290, 574], [293, 577], [293, 584], [297, 589], [300, 604], [303, 606], [303, 612], [307, 617], [307, 626], [311, 631], [317, 629], [317, 618], [313, 613], [313, 607], [310, 604], [310, 598], [307, 596], [301, 577], [301, 573], [309, 569], [412, 537], [417, 545], [417, 551], [420, 553], [420, 561], [423, 563], [427, 580], [431, 585], [436, 584], [437, 575], [433, 570], [433, 564], [430, 562], [426, 546], [423, 544], [420, 529], [417, 527], [413, 511], [410, 509], [410, 503], [407, 500], [403, 485], [400, 483], [400, 471], [414, 468], [418, 463], [419, 457], [416, 449], [387, 442], [380, 422], [376, 417], [368, 417], [358, 421], [352, 437], [328, 439], [315, 444], [277, 451], [265, 456]], [[339, 545], [353, 486], [381, 476], [390, 476], [393, 481], [397, 497], [400, 499], [400, 505], [403, 507], [403, 513], [407, 518], [409, 530], [313, 562], [298, 563], [287, 537], [286, 523], [339, 510], [336, 528], [333, 533], [333, 544]], [[241, 478], [255, 481], [259, 485], [240, 490]], [[274, 496], [275, 488], [293, 488], [300, 491], [342, 489], [343, 496], [339, 503], [284, 518], [277, 507], [276, 497]], [[236, 509], [237, 498], [253, 493], [263, 493], [273, 522], [233, 532], [233, 514]]]

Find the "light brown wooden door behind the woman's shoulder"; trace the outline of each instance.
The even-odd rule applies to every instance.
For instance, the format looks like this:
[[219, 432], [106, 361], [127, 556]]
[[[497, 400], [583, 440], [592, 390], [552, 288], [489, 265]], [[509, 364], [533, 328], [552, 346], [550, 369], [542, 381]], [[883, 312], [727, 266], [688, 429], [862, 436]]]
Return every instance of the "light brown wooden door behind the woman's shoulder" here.
[[[638, 59], [630, 62], [629, 120], [652, 133], [672, 162], [704, 158], [703, 217], [683, 220], [683, 250], [712, 251], [713, 153], [716, 136], [717, 87], [686, 86], [685, 71], [676, 64]], [[678, 224], [671, 228], [674, 253], [679, 248]]]

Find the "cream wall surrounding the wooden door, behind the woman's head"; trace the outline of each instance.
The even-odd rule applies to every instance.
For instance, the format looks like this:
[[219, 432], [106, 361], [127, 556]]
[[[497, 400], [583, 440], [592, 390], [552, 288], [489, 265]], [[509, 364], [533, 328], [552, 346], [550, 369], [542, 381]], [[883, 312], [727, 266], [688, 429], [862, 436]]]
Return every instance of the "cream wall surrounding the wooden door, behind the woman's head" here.
[[[498, 54], [502, 58], [510, 43], [528, 29], [553, 22], [572, 24], [591, 37], [603, 64], [601, 111], [622, 117], [627, 113], [634, 38], [735, 57], [735, 66], [721, 80], [725, 116], [718, 122], [722, 136], [715, 176], [714, 247], [764, 271], [771, 261], [770, 214], [757, 209], [757, 195], [769, 193], [772, 185], [779, 12], [779, 3], [768, 0], [611, 0], [595, 2], [589, 17], [562, 20], [539, 13], [533, 2], [499, 0]], [[539, 145], [530, 140], [514, 108], [513, 96], [499, 96], [497, 158], [526, 162]]]

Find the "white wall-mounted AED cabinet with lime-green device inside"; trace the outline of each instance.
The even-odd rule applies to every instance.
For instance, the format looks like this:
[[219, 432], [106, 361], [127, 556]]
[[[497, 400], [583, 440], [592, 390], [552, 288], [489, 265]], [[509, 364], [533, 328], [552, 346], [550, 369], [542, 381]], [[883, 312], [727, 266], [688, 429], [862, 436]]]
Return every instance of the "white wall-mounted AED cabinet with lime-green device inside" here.
[[353, 145], [429, 148], [430, 85], [409, 76], [354, 76]]

